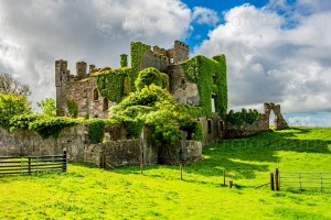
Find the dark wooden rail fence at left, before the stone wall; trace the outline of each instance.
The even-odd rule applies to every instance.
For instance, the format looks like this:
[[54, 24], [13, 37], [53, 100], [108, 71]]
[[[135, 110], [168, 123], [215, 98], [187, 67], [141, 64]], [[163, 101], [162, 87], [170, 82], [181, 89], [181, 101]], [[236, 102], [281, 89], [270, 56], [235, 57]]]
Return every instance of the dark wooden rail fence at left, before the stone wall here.
[[66, 172], [66, 151], [62, 155], [0, 156], [0, 175], [31, 175], [41, 172]]

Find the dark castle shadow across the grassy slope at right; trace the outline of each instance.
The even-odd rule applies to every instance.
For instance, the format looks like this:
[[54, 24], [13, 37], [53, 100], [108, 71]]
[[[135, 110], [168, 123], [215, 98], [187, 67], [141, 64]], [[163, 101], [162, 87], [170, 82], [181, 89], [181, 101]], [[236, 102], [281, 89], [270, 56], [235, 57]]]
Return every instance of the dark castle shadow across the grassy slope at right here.
[[[298, 135], [307, 139], [299, 139]], [[224, 140], [205, 146], [203, 148], [205, 160], [188, 164], [185, 170], [213, 176], [220, 175], [225, 168], [232, 178], [253, 179], [255, 172], [269, 170], [268, 163], [280, 162], [280, 157], [277, 156], [278, 151], [330, 154], [328, 147], [330, 144], [330, 140], [324, 140], [324, 136], [319, 136], [316, 130], [309, 128], [266, 132], [246, 139]], [[232, 174], [234, 175], [231, 176]]]

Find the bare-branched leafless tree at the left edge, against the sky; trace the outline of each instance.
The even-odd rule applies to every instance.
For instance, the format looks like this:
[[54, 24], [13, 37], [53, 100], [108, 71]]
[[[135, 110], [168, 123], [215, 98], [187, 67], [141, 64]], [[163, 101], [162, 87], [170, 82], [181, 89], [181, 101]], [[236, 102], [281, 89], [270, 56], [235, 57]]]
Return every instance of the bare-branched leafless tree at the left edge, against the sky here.
[[0, 74], [0, 94], [30, 96], [31, 90], [30, 90], [30, 87], [28, 84], [22, 84], [19, 80], [12, 78], [11, 75], [1, 73]]

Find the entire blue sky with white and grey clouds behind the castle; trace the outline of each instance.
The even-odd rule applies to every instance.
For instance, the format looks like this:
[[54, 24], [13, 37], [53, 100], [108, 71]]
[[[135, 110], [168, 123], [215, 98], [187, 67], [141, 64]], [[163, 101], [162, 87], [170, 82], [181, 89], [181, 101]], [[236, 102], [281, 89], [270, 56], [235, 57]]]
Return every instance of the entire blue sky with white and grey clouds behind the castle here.
[[119, 66], [129, 43], [227, 57], [229, 108], [281, 105], [290, 124], [331, 127], [330, 0], [0, 0], [0, 72], [55, 97], [54, 61]]

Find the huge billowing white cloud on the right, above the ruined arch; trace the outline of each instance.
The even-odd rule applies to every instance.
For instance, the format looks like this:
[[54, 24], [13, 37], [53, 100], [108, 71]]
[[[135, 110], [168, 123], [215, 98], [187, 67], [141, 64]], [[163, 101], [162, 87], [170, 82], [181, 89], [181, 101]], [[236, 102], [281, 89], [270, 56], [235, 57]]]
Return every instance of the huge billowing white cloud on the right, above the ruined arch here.
[[[331, 12], [287, 15], [249, 4], [233, 8], [194, 50], [226, 55], [231, 108], [273, 101], [284, 112], [331, 111]], [[293, 18], [300, 20], [289, 26]]]

